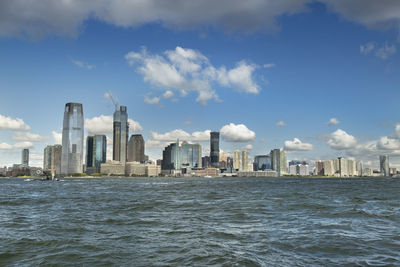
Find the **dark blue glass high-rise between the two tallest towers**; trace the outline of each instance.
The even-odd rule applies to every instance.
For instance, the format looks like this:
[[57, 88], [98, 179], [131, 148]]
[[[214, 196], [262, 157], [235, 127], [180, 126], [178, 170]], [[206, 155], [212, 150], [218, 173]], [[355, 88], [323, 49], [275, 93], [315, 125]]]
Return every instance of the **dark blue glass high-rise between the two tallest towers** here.
[[99, 173], [101, 163], [107, 158], [107, 137], [105, 135], [88, 136], [86, 139], [86, 171]]

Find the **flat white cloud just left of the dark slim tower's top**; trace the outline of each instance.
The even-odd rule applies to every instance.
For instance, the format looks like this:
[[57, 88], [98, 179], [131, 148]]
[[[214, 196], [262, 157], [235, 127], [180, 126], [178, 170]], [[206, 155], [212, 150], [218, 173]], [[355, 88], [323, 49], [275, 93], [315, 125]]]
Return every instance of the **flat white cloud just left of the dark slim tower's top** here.
[[210, 130], [205, 130], [202, 132], [188, 133], [182, 129], [176, 129], [163, 134], [150, 131], [150, 140], [161, 141], [161, 142], [175, 142], [177, 139], [180, 141], [209, 141], [210, 140]]

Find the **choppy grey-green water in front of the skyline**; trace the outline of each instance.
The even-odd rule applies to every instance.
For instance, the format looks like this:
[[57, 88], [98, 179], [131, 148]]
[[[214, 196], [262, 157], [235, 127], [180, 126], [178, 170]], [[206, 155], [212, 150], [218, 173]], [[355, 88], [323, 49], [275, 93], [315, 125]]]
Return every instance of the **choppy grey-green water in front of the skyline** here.
[[399, 266], [400, 179], [0, 179], [0, 265]]

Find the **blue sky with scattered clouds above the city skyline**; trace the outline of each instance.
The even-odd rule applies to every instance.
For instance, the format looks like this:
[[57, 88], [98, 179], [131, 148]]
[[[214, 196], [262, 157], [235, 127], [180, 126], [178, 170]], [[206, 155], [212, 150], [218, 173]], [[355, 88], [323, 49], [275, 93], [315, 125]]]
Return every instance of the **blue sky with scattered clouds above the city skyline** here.
[[43, 165], [64, 106], [107, 134], [111, 98], [151, 159], [177, 138], [209, 153], [400, 168], [400, 1], [0, 2], [0, 166]]

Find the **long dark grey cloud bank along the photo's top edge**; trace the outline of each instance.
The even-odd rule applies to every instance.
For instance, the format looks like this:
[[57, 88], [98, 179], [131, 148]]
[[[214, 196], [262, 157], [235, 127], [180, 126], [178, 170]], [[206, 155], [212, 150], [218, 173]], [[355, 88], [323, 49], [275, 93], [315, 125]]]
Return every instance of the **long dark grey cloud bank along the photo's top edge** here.
[[[398, 26], [399, 1], [319, 0], [345, 19], [371, 28]], [[282, 15], [306, 12], [310, 0], [97, 0], [0, 1], [0, 35], [74, 36], [90, 18], [119, 27], [158, 23], [174, 29], [223, 28], [228, 32], [276, 31]], [[207, 16], [204, 16], [207, 14]]]

